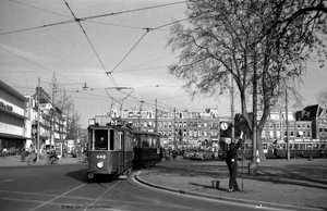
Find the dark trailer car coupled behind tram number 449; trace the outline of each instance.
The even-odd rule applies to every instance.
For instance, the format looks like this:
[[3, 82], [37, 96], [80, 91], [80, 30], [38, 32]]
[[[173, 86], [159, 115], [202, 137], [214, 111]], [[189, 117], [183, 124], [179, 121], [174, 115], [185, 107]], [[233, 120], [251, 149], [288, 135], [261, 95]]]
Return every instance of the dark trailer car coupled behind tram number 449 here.
[[164, 157], [160, 134], [135, 131], [134, 169], [154, 166]]

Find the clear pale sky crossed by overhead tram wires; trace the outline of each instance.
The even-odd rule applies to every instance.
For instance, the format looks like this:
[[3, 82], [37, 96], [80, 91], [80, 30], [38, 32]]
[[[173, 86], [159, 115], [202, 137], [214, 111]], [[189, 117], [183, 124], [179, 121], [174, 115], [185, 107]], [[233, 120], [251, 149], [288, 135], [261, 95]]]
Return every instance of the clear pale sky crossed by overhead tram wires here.
[[[192, 100], [181, 88], [184, 82], [168, 73], [178, 58], [167, 46], [169, 29], [172, 22], [185, 18], [186, 5], [180, 2], [0, 0], [0, 79], [23, 95], [33, 95], [39, 78], [51, 94], [55, 73], [74, 100], [83, 126], [109, 112], [112, 98], [124, 97], [116, 86], [128, 87], [124, 94], [133, 91], [123, 109], [138, 110], [140, 101], [144, 101], [142, 110], [153, 109], [157, 99], [159, 110], [215, 108], [218, 115], [230, 115], [229, 96]], [[87, 17], [80, 22], [83, 30], [70, 10], [77, 18]], [[326, 89], [326, 67], [307, 63], [304, 84], [299, 87], [303, 105], [317, 103], [315, 96]], [[240, 112], [238, 96], [234, 103]]]

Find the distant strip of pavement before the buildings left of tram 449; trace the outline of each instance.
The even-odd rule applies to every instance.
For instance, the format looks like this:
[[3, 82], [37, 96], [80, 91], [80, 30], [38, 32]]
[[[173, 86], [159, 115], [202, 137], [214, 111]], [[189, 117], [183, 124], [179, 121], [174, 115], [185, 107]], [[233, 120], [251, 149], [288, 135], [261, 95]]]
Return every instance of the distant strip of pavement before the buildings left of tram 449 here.
[[[3, 166], [25, 166], [25, 165], [49, 165], [49, 161], [47, 161], [47, 159], [40, 159], [39, 163], [34, 163], [34, 162], [29, 162], [27, 163], [29, 157], [25, 158], [25, 162], [23, 162], [21, 160], [21, 156], [15, 157], [15, 156], [9, 156], [5, 157], [5, 159], [3, 157], [0, 157], [0, 167]], [[81, 163], [83, 162], [81, 159], [77, 158], [61, 158], [59, 159], [58, 164], [70, 164], [70, 163]]]

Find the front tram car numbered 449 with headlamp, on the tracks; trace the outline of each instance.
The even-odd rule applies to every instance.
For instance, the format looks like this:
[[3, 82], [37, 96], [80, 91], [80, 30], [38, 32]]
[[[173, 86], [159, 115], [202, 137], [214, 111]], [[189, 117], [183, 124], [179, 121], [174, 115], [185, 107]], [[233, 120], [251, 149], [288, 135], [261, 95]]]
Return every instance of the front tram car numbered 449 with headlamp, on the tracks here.
[[133, 166], [133, 129], [109, 115], [96, 116], [88, 126], [87, 178], [106, 174], [118, 178]]

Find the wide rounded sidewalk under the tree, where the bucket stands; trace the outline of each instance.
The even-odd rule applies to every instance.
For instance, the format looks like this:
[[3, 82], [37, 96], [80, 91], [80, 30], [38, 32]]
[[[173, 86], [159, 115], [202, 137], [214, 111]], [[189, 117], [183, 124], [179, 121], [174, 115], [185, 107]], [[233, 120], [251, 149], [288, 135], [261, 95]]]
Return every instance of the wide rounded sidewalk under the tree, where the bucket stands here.
[[[217, 200], [287, 210], [327, 210], [327, 159], [267, 160], [258, 165], [258, 175], [247, 174], [243, 163], [243, 191], [228, 193], [229, 172], [223, 160], [162, 161], [141, 170], [136, 179], [171, 191]], [[218, 189], [211, 181], [220, 181]], [[242, 189], [242, 162], [238, 183]]]

